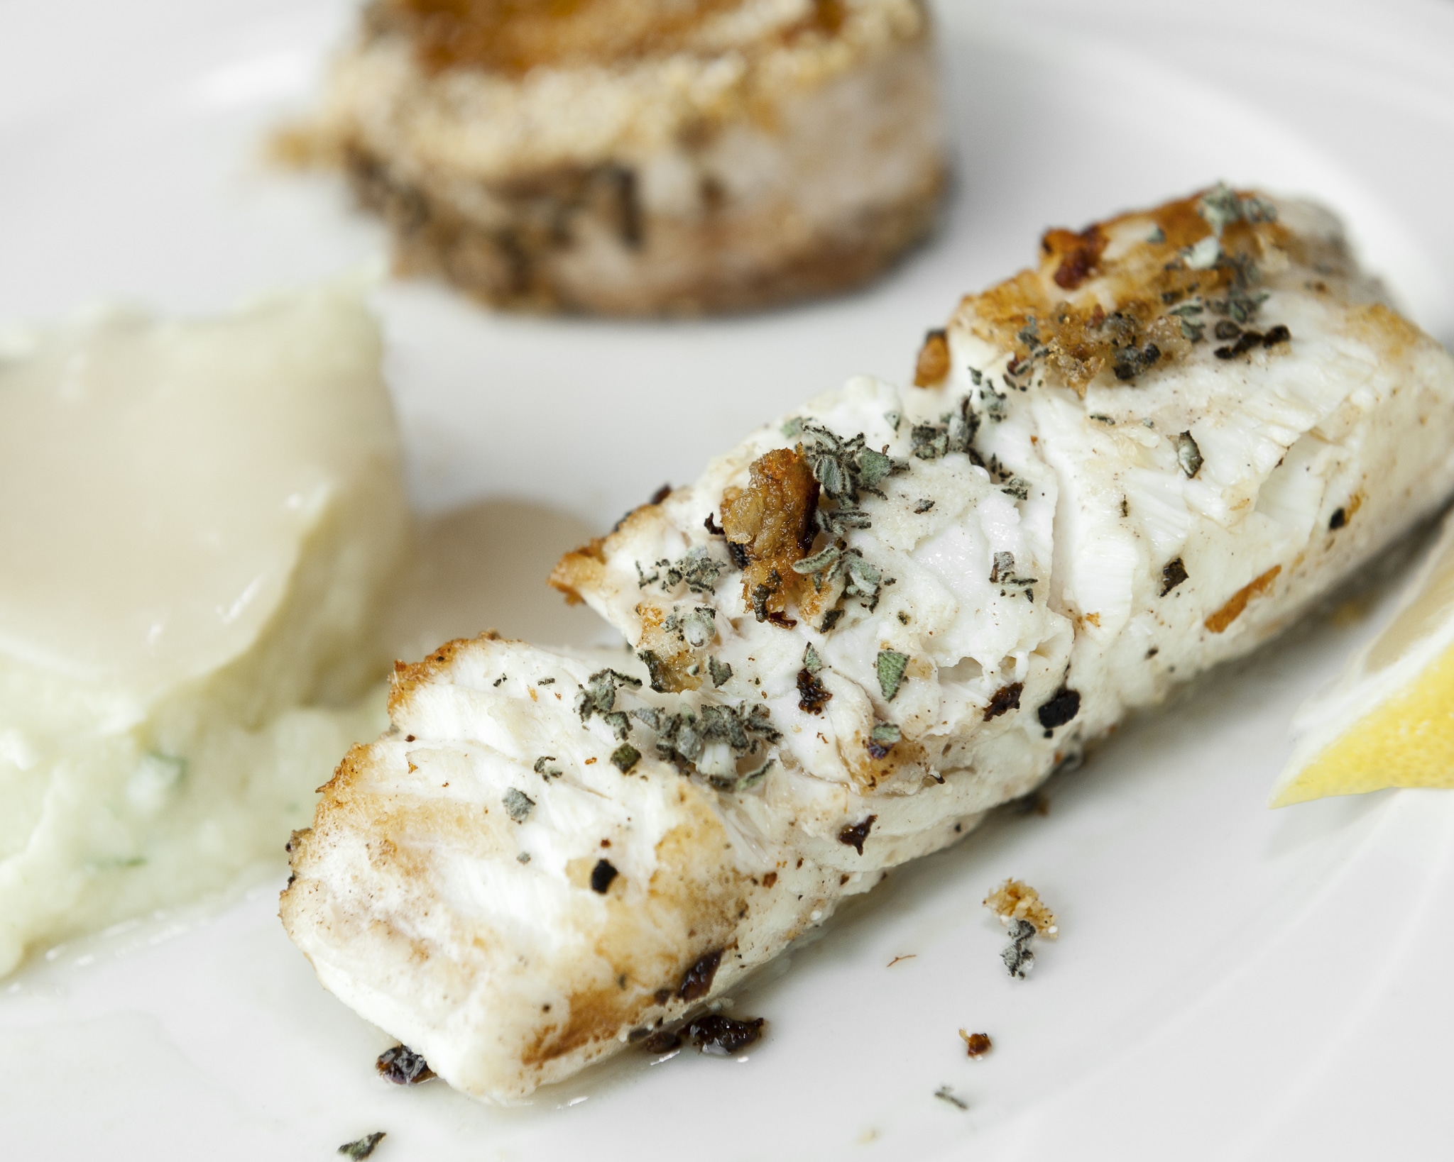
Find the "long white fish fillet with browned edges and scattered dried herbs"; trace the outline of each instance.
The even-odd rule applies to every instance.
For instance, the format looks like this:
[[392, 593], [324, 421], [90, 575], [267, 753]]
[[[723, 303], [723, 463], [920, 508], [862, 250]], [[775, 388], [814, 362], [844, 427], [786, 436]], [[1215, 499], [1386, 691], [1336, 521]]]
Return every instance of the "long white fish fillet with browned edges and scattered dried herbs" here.
[[[295, 837], [321, 982], [502, 1101], [682, 1020], [1437, 511], [1454, 362], [1338, 222], [1217, 187], [965, 298], [567, 555], [605, 667], [400, 665]], [[625, 657], [625, 655], [622, 655]]]

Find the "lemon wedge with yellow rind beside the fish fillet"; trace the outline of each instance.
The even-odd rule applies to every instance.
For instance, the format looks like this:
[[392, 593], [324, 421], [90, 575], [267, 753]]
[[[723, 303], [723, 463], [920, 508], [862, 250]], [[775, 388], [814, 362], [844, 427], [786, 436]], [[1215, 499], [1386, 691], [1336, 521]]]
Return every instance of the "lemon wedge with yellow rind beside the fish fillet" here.
[[1454, 517], [1393, 620], [1298, 710], [1298, 742], [1272, 789], [1281, 808], [1384, 787], [1454, 787]]

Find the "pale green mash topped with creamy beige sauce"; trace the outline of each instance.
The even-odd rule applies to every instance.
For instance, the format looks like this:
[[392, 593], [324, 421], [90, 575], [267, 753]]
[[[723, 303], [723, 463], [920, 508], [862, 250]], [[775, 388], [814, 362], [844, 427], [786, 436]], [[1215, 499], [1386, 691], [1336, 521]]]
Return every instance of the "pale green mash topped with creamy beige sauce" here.
[[356, 289], [0, 349], [0, 973], [281, 856], [406, 543]]

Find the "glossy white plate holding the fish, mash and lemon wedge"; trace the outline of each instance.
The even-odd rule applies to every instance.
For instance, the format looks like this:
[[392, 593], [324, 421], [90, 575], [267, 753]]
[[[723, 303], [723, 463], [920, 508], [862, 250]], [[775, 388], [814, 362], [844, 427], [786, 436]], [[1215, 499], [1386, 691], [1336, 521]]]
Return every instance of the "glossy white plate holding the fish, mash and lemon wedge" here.
[[[846, 375], [904, 375], [923, 328], [1050, 224], [1216, 177], [1316, 193], [1454, 336], [1454, 7], [941, 16], [958, 187], [941, 237], [865, 293], [669, 325], [379, 295], [416, 504], [513, 498], [538, 507], [494, 517], [548, 530], [516, 549], [529, 521], [499, 526], [481, 617], [589, 639], [521, 596], [541, 561]], [[0, 3], [0, 318], [97, 296], [199, 314], [378, 254], [337, 183], [257, 161], [350, 19], [336, 0]], [[1454, 797], [1264, 808], [1293, 709], [1371, 623], [1307, 626], [1122, 731], [1048, 816], [896, 873], [737, 1001], [772, 1023], [740, 1063], [632, 1057], [515, 1110], [388, 1088], [390, 1039], [313, 980], [269, 877], [0, 986], [3, 1153], [307, 1159], [381, 1129], [381, 1162], [1435, 1156], [1454, 1131]], [[980, 908], [1006, 874], [1061, 917], [1025, 983]], [[960, 1027], [993, 1053], [967, 1060]]]

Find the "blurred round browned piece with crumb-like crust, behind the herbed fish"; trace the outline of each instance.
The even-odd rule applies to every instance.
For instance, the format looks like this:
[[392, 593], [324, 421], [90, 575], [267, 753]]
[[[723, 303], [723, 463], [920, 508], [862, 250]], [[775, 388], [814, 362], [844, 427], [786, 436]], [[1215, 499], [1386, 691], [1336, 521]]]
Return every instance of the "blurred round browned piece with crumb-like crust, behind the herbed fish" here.
[[406, 272], [526, 309], [840, 290], [933, 224], [919, 0], [375, 0], [305, 135]]

